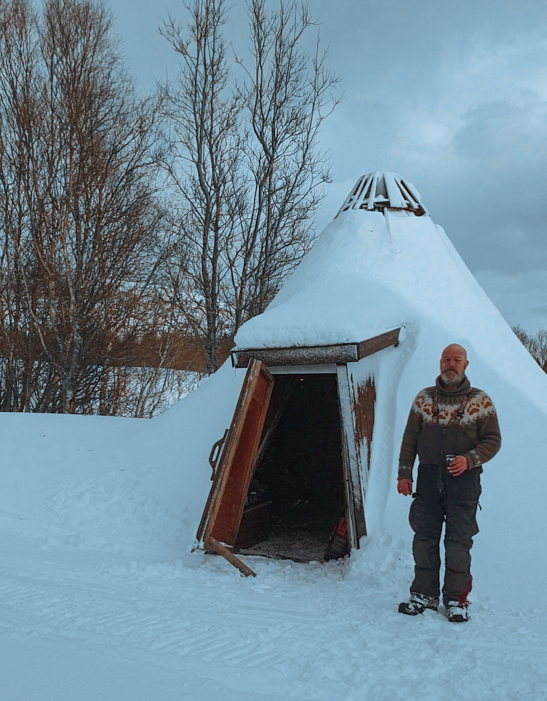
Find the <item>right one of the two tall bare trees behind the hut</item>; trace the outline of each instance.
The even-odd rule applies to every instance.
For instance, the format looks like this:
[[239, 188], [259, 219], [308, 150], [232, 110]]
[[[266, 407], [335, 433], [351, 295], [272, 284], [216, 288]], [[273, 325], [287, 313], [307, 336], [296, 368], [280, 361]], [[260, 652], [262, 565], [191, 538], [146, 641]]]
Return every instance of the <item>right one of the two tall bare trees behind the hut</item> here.
[[254, 138], [247, 149], [250, 206], [229, 257], [234, 333], [264, 311], [313, 243], [315, 212], [330, 182], [318, 132], [337, 104], [337, 78], [325, 68], [319, 39], [311, 57], [302, 48], [302, 35], [315, 26], [308, 7], [281, 1], [268, 12], [265, 0], [252, 0], [249, 14], [253, 60], [243, 94]]

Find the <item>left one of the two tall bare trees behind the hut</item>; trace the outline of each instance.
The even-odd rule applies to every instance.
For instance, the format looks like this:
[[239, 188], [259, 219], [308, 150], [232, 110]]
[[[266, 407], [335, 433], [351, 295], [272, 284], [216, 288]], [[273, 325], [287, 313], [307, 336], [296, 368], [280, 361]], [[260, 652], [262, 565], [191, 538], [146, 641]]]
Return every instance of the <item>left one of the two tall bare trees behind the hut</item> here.
[[223, 0], [196, 0], [188, 10], [189, 39], [171, 17], [161, 29], [182, 58], [176, 86], [165, 88], [174, 156], [166, 165], [178, 204], [173, 290], [194, 338], [203, 339], [208, 372], [215, 372], [225, 330], [222, 255], [241, 196], [241, 100], [229, 91]]

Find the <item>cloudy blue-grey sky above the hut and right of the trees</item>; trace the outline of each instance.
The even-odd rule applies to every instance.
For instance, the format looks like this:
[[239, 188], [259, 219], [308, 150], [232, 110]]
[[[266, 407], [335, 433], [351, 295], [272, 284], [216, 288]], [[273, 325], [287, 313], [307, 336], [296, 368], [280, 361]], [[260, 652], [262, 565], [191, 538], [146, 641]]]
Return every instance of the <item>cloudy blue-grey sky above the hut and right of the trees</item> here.
[[[156, 28], [169, 11], [184, 20], [182, 2], [109, 5], [137, 81], [151, 88], [173, 76], [177, 55]], [[400, 173], [508, 323], [547, 327], [547, 2], [311, 0], [309, 8], [344, 93], [321, 135], [334, 182], [320, 229], [360, 175]], [[245, 4], [236, 0], [231, 16], [231, 39], [245, 43]]]

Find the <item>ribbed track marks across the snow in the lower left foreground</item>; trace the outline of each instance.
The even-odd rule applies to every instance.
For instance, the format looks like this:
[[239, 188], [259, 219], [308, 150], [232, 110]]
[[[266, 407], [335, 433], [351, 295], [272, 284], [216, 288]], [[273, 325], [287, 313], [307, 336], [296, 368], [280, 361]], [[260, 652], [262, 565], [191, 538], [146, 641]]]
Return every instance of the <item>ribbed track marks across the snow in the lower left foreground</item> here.
[[[245, 607], [239, 612], [223, 611], [222, 606], [177, 606], [173, 590], [154, 592], [147, 599], [146, 587], [139, 587], [137, 597], [135, 586], [121, 585], [116, 590], [112, 583], [97, 580], [93, 587], [93, 578], [76, 573], [74, 585], [68, 584], [67, 575], [57, 575], [55, 583], [48, 586], [31, 582], [28, 571], [22, 579], [18, 578], [21, 571], [2, 574], [0, 625], [4, 629], [41, 637], [55, 634], [57, 639], [77, 638], [90, 646], [123, 641], [133, 654], [161, 652], [164, 657], [187, 662], [264, 669], [290, 659], [290, 653], [283, 654], [275, 642], [278, 630], [298, 639], [295, 630], [287, 627], [290, 615], [291, 626], [302, 627], [306, 622], [306, 616], [287, 606], [279, 611]], [[129, 601], [128, 590], [133, 594]], [[157, 613], [158, 608], [163, 608], [163, 613]], [[262, 639], [259, 632], [264, 632]]]

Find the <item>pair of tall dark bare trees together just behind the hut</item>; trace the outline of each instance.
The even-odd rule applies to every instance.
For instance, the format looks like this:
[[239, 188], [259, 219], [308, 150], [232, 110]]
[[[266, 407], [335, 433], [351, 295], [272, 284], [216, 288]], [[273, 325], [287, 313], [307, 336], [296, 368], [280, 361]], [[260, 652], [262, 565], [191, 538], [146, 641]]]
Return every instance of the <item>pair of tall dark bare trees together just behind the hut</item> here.
[[312, 56], [304, 50], [313, 21], [296, 0], [271, 13], [251, 0], [249, 61], [228, 58], [223, 0], [185, 7], [186, 27], [170, 17], [161, 29], [182, 57], [164, 91], [178, 205], [172, 277], [214, 372], [219, 343], [264, 311], [315, 238], [330, 178], [318, 131], [337, 104], [337, 78], [318, 41]]

